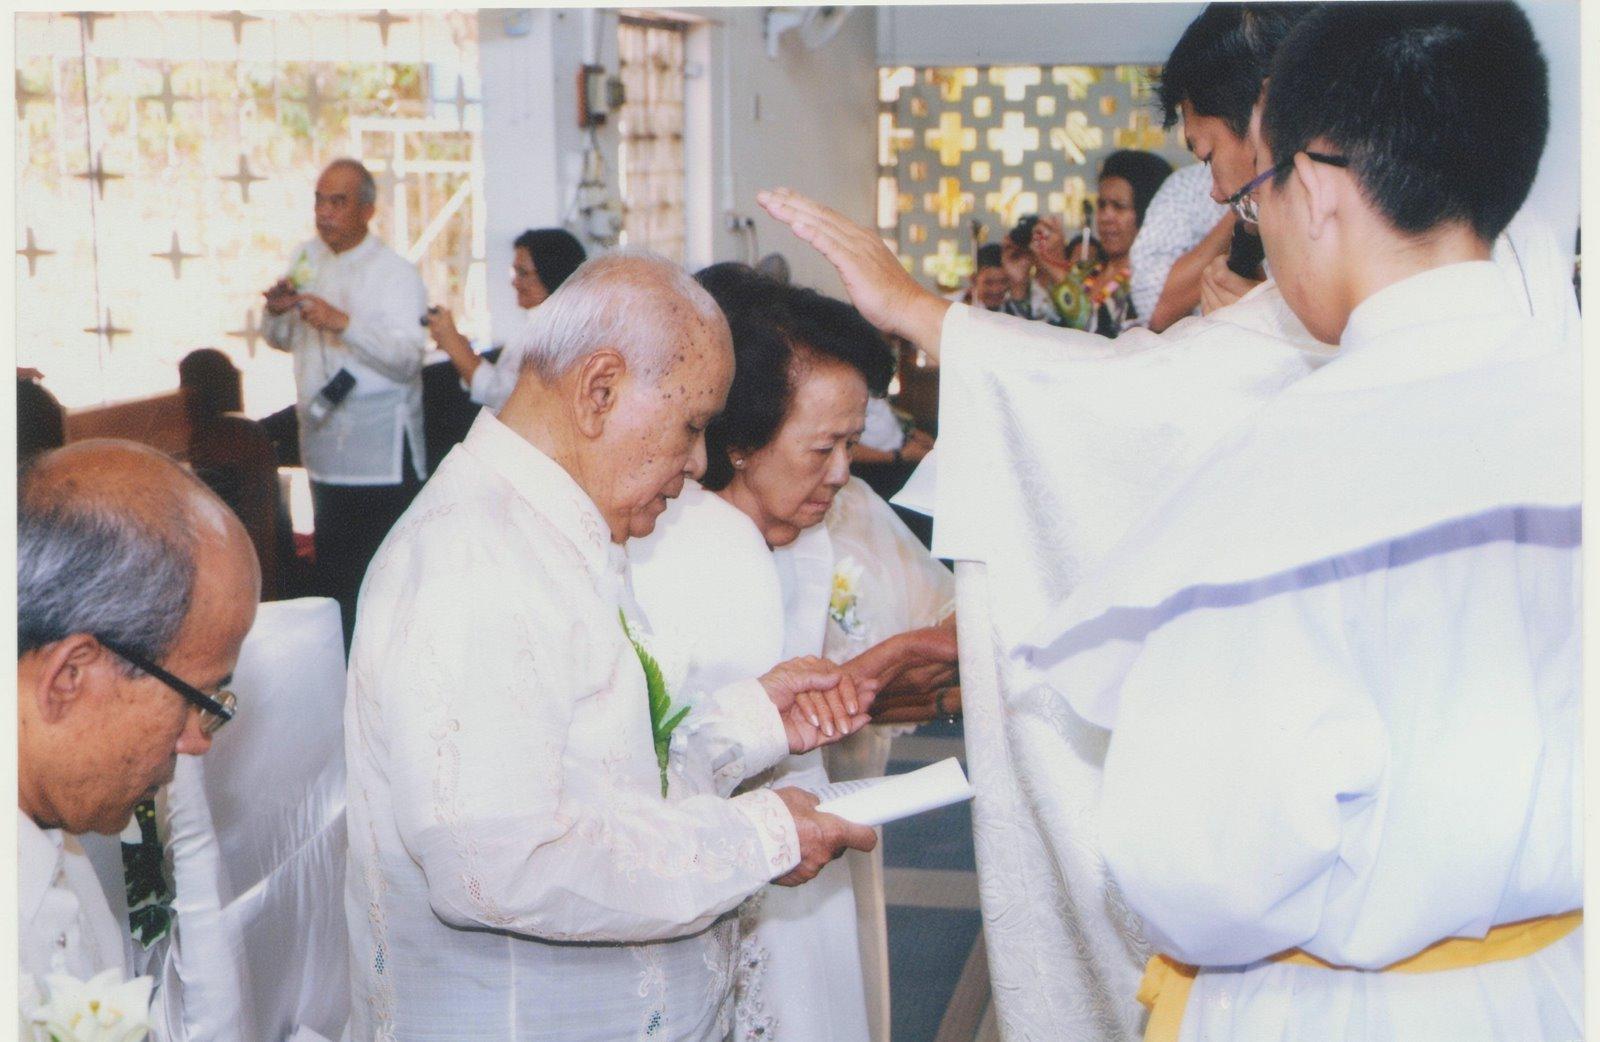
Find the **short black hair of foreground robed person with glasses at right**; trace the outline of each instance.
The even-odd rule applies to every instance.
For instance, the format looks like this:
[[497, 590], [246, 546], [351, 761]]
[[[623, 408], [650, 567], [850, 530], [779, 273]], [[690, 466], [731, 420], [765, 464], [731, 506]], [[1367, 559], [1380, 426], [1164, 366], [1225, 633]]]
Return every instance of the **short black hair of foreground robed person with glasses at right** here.
[[1278, 163], [1309, 147], [1349, 157], [1400, 232], [1461, 222], [1493, 242], [1528, 198], [1549, 125], [1544, 54], [1515, 3], [1330, 3], [1278, 48], [1261, 133]]

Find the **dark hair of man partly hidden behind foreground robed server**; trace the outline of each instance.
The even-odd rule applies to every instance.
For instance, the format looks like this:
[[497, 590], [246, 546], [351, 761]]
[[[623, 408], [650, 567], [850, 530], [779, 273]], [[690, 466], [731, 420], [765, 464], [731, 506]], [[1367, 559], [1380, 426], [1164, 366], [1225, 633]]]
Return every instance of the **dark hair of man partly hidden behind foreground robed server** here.
[[1261, 98], [1272, 54], [1310, 3], [1208, 3], [1189, 22], [1166, 59], [1157, 94], [1163, 126], [1178, 122], [1178, 106], [1214, 115], [1243, 138]]

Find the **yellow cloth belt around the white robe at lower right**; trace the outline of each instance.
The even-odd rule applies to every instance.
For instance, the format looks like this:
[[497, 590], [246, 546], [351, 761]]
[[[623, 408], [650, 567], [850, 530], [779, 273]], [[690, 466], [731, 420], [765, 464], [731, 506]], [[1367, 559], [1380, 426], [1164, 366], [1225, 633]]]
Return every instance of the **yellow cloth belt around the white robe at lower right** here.
[[[1581, 908], [1562, 916], [1507, 922], [1490, 930], [1482, 941], [1462, 936], [1445, 938], [1382, 970], [1366, 972], [1437, 973], [1440, 970], [1461, 970], [1490, 962], [1522, 959], [1557, 943], [1581, 927], [1582, 922], [1584, 909]], [[1325, 970], [1362, 972], [1350, 967], [1336, 967], [1298, 948], [1278, 952], [1270, 960], [1301, 967], [1322, 967]], [[1144, 980], [1139, 983], [1139, 1002], [1144, 1004], [1144, 1008], [1150, 1010], [1150, 1021], [1144, 1028], [1144, 1042], [1178, 1042], [1178, 1031], [1184, 1023], [1184, 1007], [1189, 1005], [1189, 989], [1194, 988], [1197, 972], [1197, 967], [1168, 959], [1166, 956], [1155, 956], [1144, 967]]]

